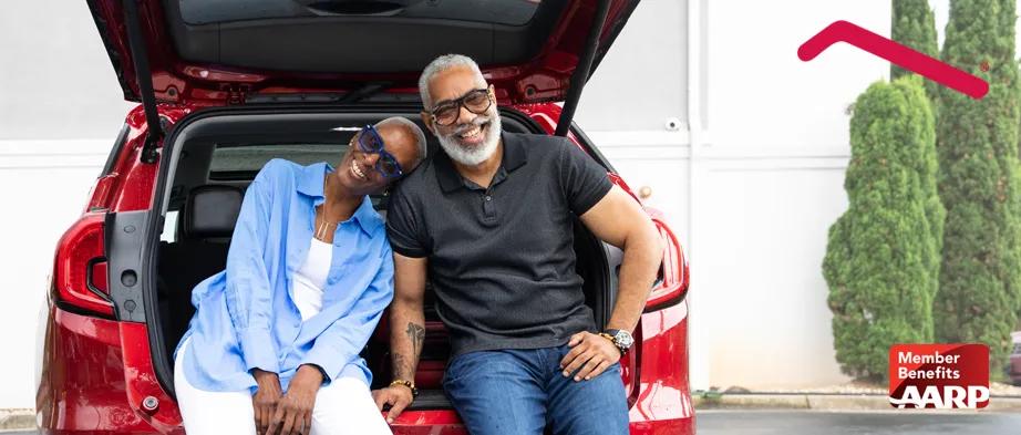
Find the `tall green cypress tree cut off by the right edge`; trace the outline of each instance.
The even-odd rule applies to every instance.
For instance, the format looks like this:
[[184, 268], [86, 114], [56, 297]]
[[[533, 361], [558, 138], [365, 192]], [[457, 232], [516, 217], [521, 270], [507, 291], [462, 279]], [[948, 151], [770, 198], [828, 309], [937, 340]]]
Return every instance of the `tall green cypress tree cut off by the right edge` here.
[[1002, 375], [1021, 308], [1015, 8], [1015, 0], [951, 0], [942, 59], [990, 89], [982, 100], [937, 92], [947, 224], [936, 338], [988, 344], [993, 376]]

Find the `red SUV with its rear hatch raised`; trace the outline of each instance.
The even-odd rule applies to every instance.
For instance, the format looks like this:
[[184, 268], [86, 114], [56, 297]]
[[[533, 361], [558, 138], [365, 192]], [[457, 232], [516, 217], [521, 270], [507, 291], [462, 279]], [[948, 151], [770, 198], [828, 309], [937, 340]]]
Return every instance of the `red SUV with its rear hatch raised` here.
[[[87, 2], [124, 97], [142, 104], [56, 248], [42, 433], [183, 433], [172, 351], [194, 313], [192, 288], [224, 269], [244, 189], [271, 158], [336, 159], [343, 127], [393, 115], [421, 123], [416, 80], [439, 54], [478, 61], [504, 128], [567, 135], [630, 191], [570, 118], [638, 0]], [[385, 197], [373, 201], [384, 214]], [[647, 210], [667, 248], [621, 361], [631, 433], [692, 434], [688, 263], [662, 215]], [[575, 250], [605, 324], [621, 253], [581, 225]], [[434, 311], [426, 320], [421, 394], [392, 427], [464, 434], [440, 384], [446, 333]], [[380, 382], [390, 379], [386, 328], [362, 353]]]

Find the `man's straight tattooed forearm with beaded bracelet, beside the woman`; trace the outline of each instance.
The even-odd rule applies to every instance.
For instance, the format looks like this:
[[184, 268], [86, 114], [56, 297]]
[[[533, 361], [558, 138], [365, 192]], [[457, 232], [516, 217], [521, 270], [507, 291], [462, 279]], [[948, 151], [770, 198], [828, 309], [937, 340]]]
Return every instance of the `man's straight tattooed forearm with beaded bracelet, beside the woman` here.
[[[393, 303], [390, 305], [390, 352], [392, 353], [393, 380], [414, 382], [419, 355], [425, 342], [425, 267], [423, 258], [404, 257], [394, 252]], [[391, 405], [386, 416], [389, 423], [401, 415], [414, 397], [411, 389], [393, 385], [373, 392], [377, 406]]]

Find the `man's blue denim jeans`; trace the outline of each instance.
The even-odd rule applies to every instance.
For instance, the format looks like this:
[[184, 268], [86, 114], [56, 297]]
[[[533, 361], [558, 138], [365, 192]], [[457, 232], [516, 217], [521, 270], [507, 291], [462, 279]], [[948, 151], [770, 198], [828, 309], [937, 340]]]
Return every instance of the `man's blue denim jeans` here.
[[564, 377], [567, 345], [471, 352], [451, 361], [443, 387], [472, 435], [628, 434], [620, 364], [590, 381]]

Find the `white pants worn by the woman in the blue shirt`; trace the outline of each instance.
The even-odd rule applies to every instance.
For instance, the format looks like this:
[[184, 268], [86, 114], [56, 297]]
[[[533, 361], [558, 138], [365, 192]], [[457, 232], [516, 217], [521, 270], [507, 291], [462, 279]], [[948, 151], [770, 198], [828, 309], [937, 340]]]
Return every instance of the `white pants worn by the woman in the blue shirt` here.
[[[177, 405], [188, 435], [251, 435], [256, 433], [251, 394], [198, 390], [184, 375], [182, 346], [174, 367]], [[372, 401], [372, 393], [360, 380], [341, 377], [319, 389], [312, 410], [310, 435], [391, 434], [386, 421]]]

